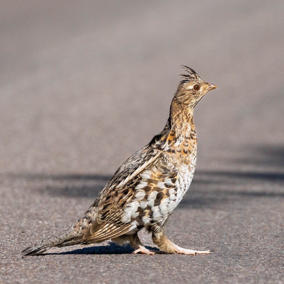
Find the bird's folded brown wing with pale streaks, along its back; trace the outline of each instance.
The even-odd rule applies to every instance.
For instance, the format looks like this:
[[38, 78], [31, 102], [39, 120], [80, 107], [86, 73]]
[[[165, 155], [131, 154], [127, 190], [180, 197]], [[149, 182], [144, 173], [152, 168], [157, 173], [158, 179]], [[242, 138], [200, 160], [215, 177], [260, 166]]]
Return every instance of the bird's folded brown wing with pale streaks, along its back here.
[[[96, 218], [90, 220], [90, 225], [83, 234], [85, 241], [110, 239], [129, 231], [131, 224], [122, 221], [124, 208], [135, 196], [141, 174], [152, 168], [160, 160], [160, 156], [160, 152], [147, 145], [120, 166], [93, 204], [96, 207]], [[93, 209], [91, 206], [88, 211]], [[90, 215], [88, 211], [84, 214], [85, 217]]]

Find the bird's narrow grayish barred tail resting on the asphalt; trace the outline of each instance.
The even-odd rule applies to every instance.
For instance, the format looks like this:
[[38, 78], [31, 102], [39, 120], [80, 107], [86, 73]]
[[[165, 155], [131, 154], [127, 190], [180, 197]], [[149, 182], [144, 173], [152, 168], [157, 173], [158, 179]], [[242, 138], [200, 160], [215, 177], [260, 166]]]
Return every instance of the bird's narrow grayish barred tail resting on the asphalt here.
[[45, 252], [51, 247], [65, 247], [70, 245], [76, 245], [80, 243], [79, 234], [74, 230], [74, 227], [71, 226], [64, 230], [63, 232], [42, 240], [40, 243], [27, 247], [22, 251], [22, 256], [24, 255], [37, 255]]

